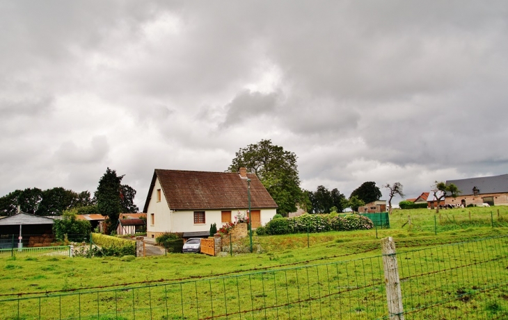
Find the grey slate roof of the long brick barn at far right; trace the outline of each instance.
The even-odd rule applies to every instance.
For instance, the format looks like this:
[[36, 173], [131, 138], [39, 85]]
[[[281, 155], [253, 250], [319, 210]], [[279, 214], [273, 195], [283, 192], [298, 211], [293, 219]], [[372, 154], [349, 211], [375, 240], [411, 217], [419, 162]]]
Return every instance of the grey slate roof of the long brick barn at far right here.
[[477, 187], [479, 194], [508, 192], [508, 174], [446, 181], [446, 185], [450, 183], [457, 185], [461, 195], [474, 194], [474, 187]]

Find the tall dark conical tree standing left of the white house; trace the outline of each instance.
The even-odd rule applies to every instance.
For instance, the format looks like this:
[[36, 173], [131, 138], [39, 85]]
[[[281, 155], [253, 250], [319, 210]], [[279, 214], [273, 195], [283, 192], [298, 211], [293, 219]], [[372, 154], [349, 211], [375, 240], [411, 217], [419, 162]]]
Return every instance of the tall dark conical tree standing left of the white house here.
[[118, 176], [115, 170], [106, 169], [106, 173], [100, 178], [95, 199], [97, 201], [97, 210], [103, 216], [107, 217], [106, 224], [111, 233], [118, 222], [120, 212], [137, 212], [138, 207], [134, 204], [136, 190], [128, 185], [122, 185], [122, 178]]

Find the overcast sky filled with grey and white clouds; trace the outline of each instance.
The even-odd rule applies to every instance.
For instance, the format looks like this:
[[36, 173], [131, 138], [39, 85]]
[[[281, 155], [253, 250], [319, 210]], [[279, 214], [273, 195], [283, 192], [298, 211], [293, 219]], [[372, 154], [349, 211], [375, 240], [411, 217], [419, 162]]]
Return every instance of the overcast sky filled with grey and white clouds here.
[[111, 167], [142, 208], [262, 139], [346, 196], [507, 174], [507, 35], [504, 0], [1, 1], [0, 196]]

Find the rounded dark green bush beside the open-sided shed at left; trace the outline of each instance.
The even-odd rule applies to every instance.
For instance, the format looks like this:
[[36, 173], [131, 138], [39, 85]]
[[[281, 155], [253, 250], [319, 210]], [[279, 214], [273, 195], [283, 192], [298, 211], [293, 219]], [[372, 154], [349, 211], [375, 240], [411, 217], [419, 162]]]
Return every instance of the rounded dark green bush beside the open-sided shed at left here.
[[81, 242], [90, 233], [92, 226], [88, 220], [77, 220], [76, 211], [66, 210], [61, 220], [56, 219], [53, 224], [53, 233], [56, 239], [63, 241], [67, 235], [70, 241]]

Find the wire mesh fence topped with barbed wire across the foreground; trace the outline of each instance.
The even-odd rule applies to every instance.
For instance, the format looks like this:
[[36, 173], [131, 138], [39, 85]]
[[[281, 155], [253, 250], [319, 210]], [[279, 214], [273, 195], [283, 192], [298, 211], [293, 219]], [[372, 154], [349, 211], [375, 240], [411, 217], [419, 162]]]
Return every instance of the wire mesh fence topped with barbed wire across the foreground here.
[[[0, 314], [26, 320], [507, 319], [507, 255], [508, 237], [491, 237], [233, 276], [3, 297]], [[387, 287], [394, 289], [389, 301]]]

